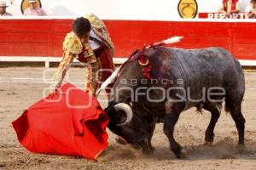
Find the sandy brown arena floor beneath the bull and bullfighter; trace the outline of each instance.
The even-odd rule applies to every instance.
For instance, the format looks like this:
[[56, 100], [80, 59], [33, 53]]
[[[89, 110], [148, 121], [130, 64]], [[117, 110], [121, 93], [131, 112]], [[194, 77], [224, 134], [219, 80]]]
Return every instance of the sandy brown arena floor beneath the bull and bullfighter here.
[[[84, 70], [72, 68], [71, 82], [83, 80]], [[143, 156], [141, 150], [119, 145], [115, 135], [109, 133], [109, 147], [98, 161], [87, 161], [76, 156], [48, 156], [31, 153], [22, 148], [11, 127], [22, 111], [43, 97], [49, 87], [45, 77], [51, 78], [54, 70], [31, 67], [0, 68], [0, 169], [256, 169], [256, 73], [246, 73], [246, 95], [242, 112], [246, 123], [246, 150], [236, 147], [235, 122], [224, 111], [221, 114], [212, 146], [204, 145], [204, 133], [210, 120], [207, 111], [201, 115], [195, 108], [183, 112], [177, 122], [175, 136], [187, 150], [187, 159], [177, 160], [159, 124], [154, 132], [153, 156]], [[82, 83], [76, 83], [79, 87]], [[100, 101], [106, 106], [106, 101]]]

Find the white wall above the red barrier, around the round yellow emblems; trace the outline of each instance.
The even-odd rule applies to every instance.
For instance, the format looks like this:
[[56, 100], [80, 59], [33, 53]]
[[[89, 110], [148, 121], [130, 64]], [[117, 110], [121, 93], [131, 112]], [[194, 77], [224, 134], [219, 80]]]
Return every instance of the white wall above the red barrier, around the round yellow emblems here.
[[[22, 15], [21, 0], [6, 0], [11, 14]], [[44, 11], [54, 16], [94, 13], [104, 20], [177, 20], [179, 0], [41, 0]], [[222, 0], [196, 0], [199, 13], [214, 13]], [[250, 0], [240, 0], [244, 12]]]

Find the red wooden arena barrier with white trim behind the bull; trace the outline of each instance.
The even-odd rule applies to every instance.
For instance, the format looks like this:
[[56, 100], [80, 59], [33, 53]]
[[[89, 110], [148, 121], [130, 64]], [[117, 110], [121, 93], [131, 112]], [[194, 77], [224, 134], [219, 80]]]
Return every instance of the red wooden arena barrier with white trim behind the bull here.
[[[0, 62], [61, 60], [62, 41], [74, 18], [6, 17], [0, 19]], [[113, 39], [115, 64], [121, 64], [143, 44], [183, 36], [176, 48], [222, 47], [241, 65], [256, 65], [255, 20], [104, 20]]]

